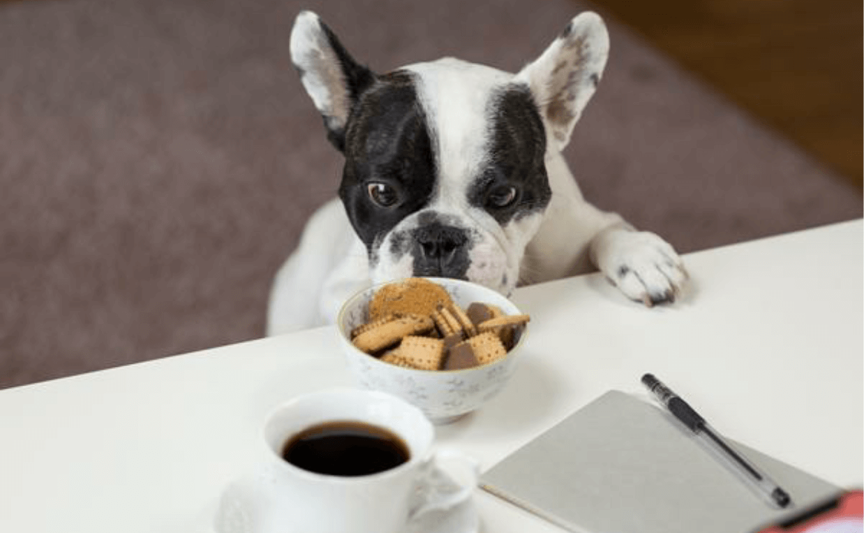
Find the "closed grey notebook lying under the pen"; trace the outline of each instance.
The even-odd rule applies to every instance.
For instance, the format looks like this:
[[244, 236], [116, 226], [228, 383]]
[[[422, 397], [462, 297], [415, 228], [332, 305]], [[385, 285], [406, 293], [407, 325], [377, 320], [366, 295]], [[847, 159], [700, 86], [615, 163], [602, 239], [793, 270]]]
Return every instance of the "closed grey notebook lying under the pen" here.
[[837, 487], [734, 443], [795, 507], [772, 508], [670, 414], [610, 391], [493, 466], [480, 485], [580, 533], [747, 533]]

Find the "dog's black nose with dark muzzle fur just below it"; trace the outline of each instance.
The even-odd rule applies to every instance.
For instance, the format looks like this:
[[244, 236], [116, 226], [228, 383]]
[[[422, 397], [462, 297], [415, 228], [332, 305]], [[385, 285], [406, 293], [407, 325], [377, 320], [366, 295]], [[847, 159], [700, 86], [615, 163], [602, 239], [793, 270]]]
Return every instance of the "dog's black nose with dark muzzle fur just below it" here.
[[414, 275], [465, 278], [468, 235], [464, 229], [434, 223], [414, 230]]

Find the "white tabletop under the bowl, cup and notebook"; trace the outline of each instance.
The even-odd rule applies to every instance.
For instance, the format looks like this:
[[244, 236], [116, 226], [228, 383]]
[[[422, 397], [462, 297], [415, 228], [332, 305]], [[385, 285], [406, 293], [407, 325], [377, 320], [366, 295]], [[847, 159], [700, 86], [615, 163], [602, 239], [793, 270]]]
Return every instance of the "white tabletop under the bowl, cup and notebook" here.
[[[858, 220], [689, 254], [672, 306], [646, 310], [597, 274], [520, 289], [517, 376], [439, 442], [486, 468], [608, 389], [647, 399], [653, 372], [730, 438], [861, 486], [861, 257]], [[327, 327], [0, 391], [0, 530], [204, 531], [264, 453], [264, 414], [351, 384]], [[486, 531], [560, 531], [476, 502]]]

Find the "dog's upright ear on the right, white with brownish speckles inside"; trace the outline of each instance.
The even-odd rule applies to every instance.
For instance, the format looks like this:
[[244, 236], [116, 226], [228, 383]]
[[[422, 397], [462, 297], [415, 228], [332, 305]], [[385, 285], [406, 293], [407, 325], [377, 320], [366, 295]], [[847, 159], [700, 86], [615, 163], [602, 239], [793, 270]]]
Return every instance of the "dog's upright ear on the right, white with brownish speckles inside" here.
[[562, 150], [588, 104], [609, 55], [609, 34], [603, 19], [590, 11], [576, 16], [536, 61], [515, 81], [530, 87], [551, 140]]

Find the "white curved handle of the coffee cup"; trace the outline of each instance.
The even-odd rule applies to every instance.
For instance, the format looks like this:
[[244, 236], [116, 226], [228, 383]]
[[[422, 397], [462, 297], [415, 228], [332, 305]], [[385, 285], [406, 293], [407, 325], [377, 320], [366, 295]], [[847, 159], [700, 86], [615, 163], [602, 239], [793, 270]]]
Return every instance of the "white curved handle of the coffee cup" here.
[[[451, 476], [444, 464], [461, 464], [462, 476]], [[410, 518], [429, 511], [445, 511], [471, 498], [480, 476], [480, 463], [470, 455], [453, 448], [442, 448], [426, 460], [417, 480]], [[461, 482], [456, 481], [460, 479]]]

